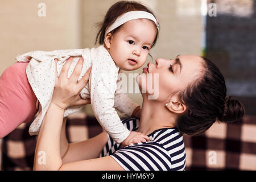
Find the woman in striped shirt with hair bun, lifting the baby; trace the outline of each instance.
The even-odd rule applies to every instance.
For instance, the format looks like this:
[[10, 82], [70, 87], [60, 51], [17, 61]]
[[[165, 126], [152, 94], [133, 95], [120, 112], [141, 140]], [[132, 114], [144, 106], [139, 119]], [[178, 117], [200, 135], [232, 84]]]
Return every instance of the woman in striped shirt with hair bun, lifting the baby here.
[[[179, 55], [173, 60], [157, 59], [137, 77], [140, 89], [146, 90], [142, 94], [141, 119], [126, 119], [125, 125], [148, 135], [150, 141], [144, 138], [143, 143], [122, 148], [103, 132], [68, 144], [65, 108], [89, 103], [78, 94], [88, 81], [89, 72], [77, 83], [81, 70], [81, 64], [77, 64], [68, 79], [70, 63], [65, 63], [60, 78], [56, 78], [52, 102], [36, 144], [35, 170], [184, 170], [182, 134], [202, 134], [216, 120], [233, 122], [244, 113], [239, 101], [226, 97], [224, 78], [212, 62], [200, 56]], [[154, 88], [159, 97], [150, 100], [152, 93], [143, 86], [146, 82], [154, 85], [154, 75], [159, 77], [159, 88]], [[45, 163], [40, 162], [42, 151]], [[102, 158], [98, 158], [100, 154]]]

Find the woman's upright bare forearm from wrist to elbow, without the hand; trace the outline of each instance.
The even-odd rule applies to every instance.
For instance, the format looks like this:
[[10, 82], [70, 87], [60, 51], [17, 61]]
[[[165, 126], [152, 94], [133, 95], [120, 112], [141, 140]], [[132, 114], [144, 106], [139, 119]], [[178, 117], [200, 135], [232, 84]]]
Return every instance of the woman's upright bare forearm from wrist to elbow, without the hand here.
[[[57, 170], [62, 166], [60, 133], [63, 117], [63, 109], [55, 104], [49, 105], [36, 142], [34, 170]], [[42, 158], [45, 158], [44, 163], [40, 162]]]

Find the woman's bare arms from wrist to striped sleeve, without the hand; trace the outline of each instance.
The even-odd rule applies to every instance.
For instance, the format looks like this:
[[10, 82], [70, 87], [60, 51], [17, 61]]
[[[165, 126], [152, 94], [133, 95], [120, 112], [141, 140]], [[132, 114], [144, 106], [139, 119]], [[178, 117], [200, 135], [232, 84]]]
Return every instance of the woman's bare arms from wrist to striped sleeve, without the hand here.
[[[35, 155], [34, 170], [120, 170], [121, 166], [111, 157], [98, 158], [108, 137], [103, 132], [96, 137], [79, 143], [69, 144], [68, 151], [61, 159], [60, 134], [64, 110], [51, 104], [42, 123], [35, 154], [43, 151], [46, 164], [38, 162], [41, 155]], [[54, 121], [54, 122], [52, 122]], [[102, 140], [104, 139], [104, 140]], [[86, 160], [91, 159], [91, 160]]]

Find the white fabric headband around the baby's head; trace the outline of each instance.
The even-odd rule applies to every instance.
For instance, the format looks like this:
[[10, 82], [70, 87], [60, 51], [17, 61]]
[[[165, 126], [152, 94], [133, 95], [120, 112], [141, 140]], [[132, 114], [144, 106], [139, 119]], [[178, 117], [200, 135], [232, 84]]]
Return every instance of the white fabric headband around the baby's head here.
[[[133, 19], [141, 19], [141, 18], [144, 18], [144, 19], [150, 19], [152, 20], [153, 22], [155, 22], [156, 24], [156, 28], [159, 27], [158, 25], [158, 20], [155, 19], [155, 17], [151, 14], [151, 13], [148, 13], [147, 11], [129, 11], [121, 16], [119, 16], [115, 22], [110, 25], [107, 30], [106, 30], [106, 34], [108, 34], [109, 32], [111, 32], [112, 30], [114, 30], [115, 28], [121, 26], [122, 24], [130, 21], [130, 20], [133, 20]], [[105, 34], [105, 35], [106, 35]]]

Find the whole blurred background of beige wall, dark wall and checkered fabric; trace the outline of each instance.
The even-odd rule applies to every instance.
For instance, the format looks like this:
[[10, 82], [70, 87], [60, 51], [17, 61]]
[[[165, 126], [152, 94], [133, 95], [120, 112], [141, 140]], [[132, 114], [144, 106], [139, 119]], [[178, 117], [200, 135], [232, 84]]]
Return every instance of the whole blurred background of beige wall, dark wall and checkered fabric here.
[[[1, 0], [0, 75], [15, 63], [18, 54], [35, 50], [99, 46], [94, 44], [98, 31], [96, 24], [103, 20], [106, 11], [115, 2], [117, 1]], [[185, 139], [187, 169], [256, 170], [255, 0], [139, 2], [151, 7], [160, 23], [159, 39], [151, 49], [152, 58], [148, 57], [148, 61], [154, 62], [158, 57], [173, 59], [182, 54], [205, 56], [223, 73], [228, 95], [237, 98], [245, 106], [246, 116], [242, 123], [232, 126], [214, 124], [203, 138]], [[141, 73], [142, 69], [133, 72]], [[139, 105], [142, 104], [141, 94], [133, 93], [129, 96]], [[90, 105], [79, 114], [93, 117]], [[213, 140], [218, 143], [217, 148], [215, 144], [209, 144]], [[21, 155], [16, 154], [17, 139], [12, 140], [7, 136], [6, 140], [2, 140], [2, 146], [2, 162], [13, 165], [9, 168], [2, 167], [3, 169], [30, 169], [26, 166], [28, 162], [23, 166], [14, 162], [21, 158]], [[209, 163], [211, 155], [208, 154], [212, 154], [209, 151], [216, 151], [217, 164]], [[18, 167], [15, 168], [15, 165]]]

